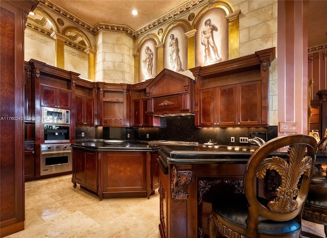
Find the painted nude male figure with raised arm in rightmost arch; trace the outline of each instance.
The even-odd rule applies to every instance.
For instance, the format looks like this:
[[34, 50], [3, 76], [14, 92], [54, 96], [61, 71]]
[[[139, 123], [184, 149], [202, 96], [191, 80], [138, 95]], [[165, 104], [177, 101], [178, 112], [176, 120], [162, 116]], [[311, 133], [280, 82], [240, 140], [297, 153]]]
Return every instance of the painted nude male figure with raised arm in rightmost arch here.
[[[201, 44], [204, 46], [204, 65], [220, 61], [218, 50], [213, 39], [213, 31], [218, 31], [218, 28], [208, 18], [204, 21], [204, 28], [201, 31]], [[211, 47], [211, 49], [209, 48]], [[213, 53], [213, 56], [212, 56]]]

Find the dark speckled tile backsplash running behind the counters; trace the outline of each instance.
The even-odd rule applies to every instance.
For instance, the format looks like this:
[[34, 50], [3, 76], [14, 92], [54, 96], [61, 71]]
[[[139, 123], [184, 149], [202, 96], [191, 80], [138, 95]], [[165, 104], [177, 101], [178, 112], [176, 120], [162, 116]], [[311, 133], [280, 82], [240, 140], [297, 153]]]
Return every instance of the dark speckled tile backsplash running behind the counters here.
[[[267, 133], [267, 140], [277, 137], [277, 126], [268, 127], [208, 127], [198, 128], [194, 116], [167, 117], [166, 128], [132, 127], [87, 127], [76, 126], [76, 140], [80, 139], [123, 139], [123, 140], [174, 140], [195, 141], [203, 144], [212, 140], [222, 145], [244, 145], [240, 137], [250, 138], [251, 133]], [[85, 137], [81, 137], [81, 132]], [[128, 135], [129, 134], [129, 138]], [[149, 138], [147, 138], [147, 134]], [[230, 137], [235, 142], [230, 142]]]

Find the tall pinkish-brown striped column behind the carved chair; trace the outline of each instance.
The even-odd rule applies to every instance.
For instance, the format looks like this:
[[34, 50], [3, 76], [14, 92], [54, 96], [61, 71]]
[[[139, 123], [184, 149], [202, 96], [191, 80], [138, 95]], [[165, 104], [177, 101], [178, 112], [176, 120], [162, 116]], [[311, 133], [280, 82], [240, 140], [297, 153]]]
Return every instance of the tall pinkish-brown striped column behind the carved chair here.
[[[308, 134], [308, 1], [278, 0], [278, 122]], [[278, 125], [278, 136], [282, 133]]]

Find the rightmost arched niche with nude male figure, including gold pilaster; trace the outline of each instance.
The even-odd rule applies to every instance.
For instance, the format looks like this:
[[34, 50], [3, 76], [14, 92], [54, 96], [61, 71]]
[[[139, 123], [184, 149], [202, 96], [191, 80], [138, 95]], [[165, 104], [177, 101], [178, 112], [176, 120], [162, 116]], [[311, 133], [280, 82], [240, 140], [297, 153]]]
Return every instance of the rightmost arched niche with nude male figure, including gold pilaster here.
[[[239, 57], [239, 13], [240, 11], [234, 12], [228, 3], [216, 1], [197, 14], [192, 25], [197, 30], [195, 66], [206, 66]], [[208, 19], [215, 25], [211, 32], [205, 26]], [[216, 48], [217, 55], [213, 48]]]

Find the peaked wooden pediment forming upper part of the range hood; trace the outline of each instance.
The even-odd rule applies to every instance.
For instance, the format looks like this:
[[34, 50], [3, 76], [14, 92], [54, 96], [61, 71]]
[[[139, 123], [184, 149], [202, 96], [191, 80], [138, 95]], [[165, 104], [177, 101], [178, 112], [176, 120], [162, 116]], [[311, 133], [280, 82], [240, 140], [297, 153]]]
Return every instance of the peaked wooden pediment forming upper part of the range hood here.
[[190, 92], [194, 80], [188, 76], [164, 69], [146, 86], [147, 97], [161, 97]]

